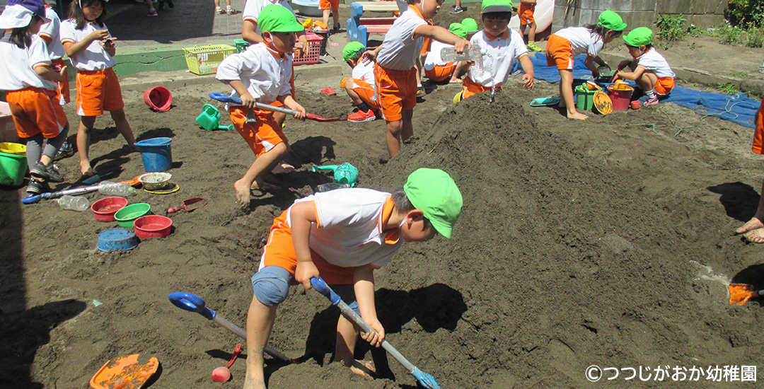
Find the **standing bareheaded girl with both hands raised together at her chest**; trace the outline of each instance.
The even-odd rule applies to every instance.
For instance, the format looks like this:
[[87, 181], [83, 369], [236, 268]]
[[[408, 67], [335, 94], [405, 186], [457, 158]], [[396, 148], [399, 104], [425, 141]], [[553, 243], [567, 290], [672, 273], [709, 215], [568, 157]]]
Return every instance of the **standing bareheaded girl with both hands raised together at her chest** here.
[[83, 178], [95, 175], [89, 157], [90, 133], [95, 118], [104, 111], [112, 114], [117, 131], [128, 142], [130, 151], [138, 151], [113, 69], [117, 64], [115, 38], [103, 23], [105, 17], [105, 0], [75, 0], [69, 8], [69, 19], [61, 23], [61, 43], [77, 69], [77, 151]]

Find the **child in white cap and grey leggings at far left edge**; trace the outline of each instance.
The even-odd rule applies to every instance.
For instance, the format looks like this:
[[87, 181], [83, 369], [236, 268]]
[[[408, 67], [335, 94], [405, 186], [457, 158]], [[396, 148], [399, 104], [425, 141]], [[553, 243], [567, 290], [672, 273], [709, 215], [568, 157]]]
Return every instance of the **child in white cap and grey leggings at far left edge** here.
[[26, 191], [31, 194], [46, 189], [48, 181], [63, 182], [53, 157], [69, 132], [56, 92], [63, 70], [51, 68], [45, 42], [37, 36], [48, 21], [41, 0], [10, 0], [0, 15], [0, 31], [10, 31], [0, 40], [0, 90], [5, 91], [19, 138], [27, 141], [32, 179]]

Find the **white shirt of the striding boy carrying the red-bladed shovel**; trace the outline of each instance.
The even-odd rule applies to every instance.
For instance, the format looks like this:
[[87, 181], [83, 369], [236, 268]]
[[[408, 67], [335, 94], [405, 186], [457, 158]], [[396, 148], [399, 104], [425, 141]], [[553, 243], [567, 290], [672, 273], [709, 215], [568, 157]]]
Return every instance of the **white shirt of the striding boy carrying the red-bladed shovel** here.
[[[267, 44], [253, 44], [242, 53], [225, 57], [218, 66], [216, 79], [240, 80], [257, 102], [270, 104], [278, 96], [292, 93], [292, 56], [278, 53]], [[235, 90], [231, 96], [240, 97]]]

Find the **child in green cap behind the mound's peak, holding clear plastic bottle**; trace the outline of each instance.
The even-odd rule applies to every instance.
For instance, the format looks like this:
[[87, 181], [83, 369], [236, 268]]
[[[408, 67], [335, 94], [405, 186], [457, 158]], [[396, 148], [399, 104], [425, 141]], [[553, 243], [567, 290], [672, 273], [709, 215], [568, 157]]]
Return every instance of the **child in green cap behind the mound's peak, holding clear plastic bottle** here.
[[464, 89], [461, 91], [461, 99], [487, 90], [501, 90], [510, 76], [514, 61], [520, 61], [520, 66], [523, 66], [523, 86], [533, 90], [533, 63], [528, 57], [523, 36], [508, 26], [512, 18], [512, 2], [483, 0], [482, 7], [483, 30], [474, 34], [470, 43], [485, 50], [482, 56], [483, 69], [469, 66], [467, 76], [462, 81]]

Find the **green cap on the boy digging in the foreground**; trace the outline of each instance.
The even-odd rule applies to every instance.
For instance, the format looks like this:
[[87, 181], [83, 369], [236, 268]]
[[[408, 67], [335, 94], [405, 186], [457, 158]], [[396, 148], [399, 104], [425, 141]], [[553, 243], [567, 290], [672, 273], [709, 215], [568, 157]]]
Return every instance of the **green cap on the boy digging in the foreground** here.
[[456, 183], [440, 169], [417, 169], [403, 185], [411, 204], [446, 238], [461, 213], [461, 192]]

